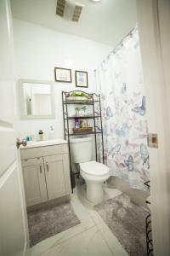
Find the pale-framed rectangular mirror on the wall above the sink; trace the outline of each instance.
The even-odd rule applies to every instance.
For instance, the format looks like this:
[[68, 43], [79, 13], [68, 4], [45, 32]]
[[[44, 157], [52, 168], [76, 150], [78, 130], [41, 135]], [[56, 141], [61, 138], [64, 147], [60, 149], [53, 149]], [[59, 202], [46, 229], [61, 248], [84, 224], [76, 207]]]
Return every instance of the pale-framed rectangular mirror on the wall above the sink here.
[[19, 80], [20, 119], [54, 118], [54, 85], [49, 81]]

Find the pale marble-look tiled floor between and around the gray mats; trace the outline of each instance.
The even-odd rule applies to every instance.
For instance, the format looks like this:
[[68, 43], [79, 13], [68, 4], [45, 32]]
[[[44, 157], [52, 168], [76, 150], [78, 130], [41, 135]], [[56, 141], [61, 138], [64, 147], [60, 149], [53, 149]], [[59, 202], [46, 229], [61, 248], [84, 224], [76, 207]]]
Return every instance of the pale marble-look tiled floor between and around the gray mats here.
[[[105, 187], [107, 198], [122, 192]], [[71, 204], [81, 224], [50, 237], [31, 248], [31, 256], [127, 256], [111, 230], [75, 189]]]

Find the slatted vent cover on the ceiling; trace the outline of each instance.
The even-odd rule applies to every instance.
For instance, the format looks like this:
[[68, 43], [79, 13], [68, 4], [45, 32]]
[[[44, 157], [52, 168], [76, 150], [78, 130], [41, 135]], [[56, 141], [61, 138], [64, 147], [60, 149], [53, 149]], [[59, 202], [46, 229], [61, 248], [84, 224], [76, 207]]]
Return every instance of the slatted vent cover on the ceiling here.
[[58, 0], [56, 15], [63, 17], [65, 20], [78, 22], [84, 5], [77, 3], [75, 0]]

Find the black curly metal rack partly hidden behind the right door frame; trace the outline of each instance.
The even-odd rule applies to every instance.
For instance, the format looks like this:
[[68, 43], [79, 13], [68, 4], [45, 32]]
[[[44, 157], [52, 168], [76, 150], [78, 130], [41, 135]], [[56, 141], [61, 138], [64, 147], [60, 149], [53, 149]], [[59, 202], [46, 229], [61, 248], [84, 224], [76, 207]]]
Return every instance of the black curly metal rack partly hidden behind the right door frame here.
[[[150, 180], [145, 182], [144, 185], [150, 189]], [[146, 200], [146, 204], [150, 204], [150, 201]], [[146, 246], [147, 256], [153, 256], [153, 241], [152, 241], [152, 230], [151, 230], [151, 214], [148, 214], [145, 220], [146, 223]]]

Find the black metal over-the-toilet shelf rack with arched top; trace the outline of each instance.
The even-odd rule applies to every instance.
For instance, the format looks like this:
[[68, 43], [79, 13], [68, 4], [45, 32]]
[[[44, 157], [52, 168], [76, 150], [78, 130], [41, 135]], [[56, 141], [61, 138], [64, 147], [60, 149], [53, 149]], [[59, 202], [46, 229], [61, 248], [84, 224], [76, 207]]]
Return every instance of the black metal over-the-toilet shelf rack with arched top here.
[[[79, 93], [85, 93], [87, 95], [86, 100], [80, 100], [80, 99], [69, 99], [72, 93], [79, 92]], [[63, 121], [64, 121], [64, 132], [65, 132], [65, 140], [68, 141], [69, 146], [69, 157], [70, 157], [70, 166], [71, 166], [71, 146], [70, 146], [70, 137], [77, 137], [77, 136], [84, 136], [84, 135], [94, 135], [94, 141], [95, 141], [95, 159], [98, 160], [98, 145], [97, 145], [97, 137], [101, 137], [101, 152], [102, 152], [102, 162], [105, 163], [105, 157], [104, 157], [104, 138], [103, 138], [103, 126], [102, 126], [102, 117], [101, 117], [101, 101], [100, 101], [100, 95], [97, 95], [95, 93], [87, 93], [82, 90], [71, 90], [71, 91], [62, 91], [62, 105], [63, 105]], [[70, 105], [91, 105], [93, 109], [93, 113], [86, 116], [69, 116], [69, 106]], [[81, 133], [72, 133], [71, 132], [71, 121], [74, 119], [93, 119], [94, 120], [94, 131], [88, 131], [88, 132], [81, 132]], [[75, 188], [75, 174], [72, 172], [71, 167], [71, 189], [73, 192], [73, 189]]]

